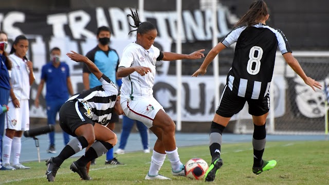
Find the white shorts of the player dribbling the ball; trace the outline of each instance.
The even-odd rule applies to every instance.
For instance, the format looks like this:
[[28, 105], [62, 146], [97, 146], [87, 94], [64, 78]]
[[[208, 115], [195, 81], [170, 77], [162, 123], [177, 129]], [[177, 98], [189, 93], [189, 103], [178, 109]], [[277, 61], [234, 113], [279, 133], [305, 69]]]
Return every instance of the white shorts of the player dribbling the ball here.
[[153, 120], [158, 111], [163, 110], [154, 97], [134, 97], [134, 100], [121, 97], [120, 103], [127, 117], [144, 123], [148, 128], [153, 126]]

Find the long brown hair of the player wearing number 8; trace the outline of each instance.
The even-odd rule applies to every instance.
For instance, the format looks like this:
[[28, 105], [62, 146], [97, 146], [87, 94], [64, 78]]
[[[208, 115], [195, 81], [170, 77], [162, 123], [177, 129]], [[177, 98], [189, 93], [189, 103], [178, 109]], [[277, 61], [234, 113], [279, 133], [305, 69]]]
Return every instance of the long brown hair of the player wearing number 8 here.
[[250, 5], [247, 13], [234, 25], [234, 28], [258, 24], [267, 14], [269, 14], [269, 11], [266, 3], [263, 0], [256, 0]]

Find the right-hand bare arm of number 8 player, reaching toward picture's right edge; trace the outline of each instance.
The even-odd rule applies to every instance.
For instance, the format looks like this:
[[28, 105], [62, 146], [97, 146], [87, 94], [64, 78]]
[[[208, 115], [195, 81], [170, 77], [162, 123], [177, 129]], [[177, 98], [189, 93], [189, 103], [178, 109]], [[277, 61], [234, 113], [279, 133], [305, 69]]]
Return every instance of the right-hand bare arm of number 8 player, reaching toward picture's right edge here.
[[318, 89], [321, 89], [322, 85], [315, 81], [314, 79], [307, 77], [302, 67], [299, 65], [299, 62], [297, 59], [291, 54], [290, 52], [283, 54], [284, 60], [287, 62], [287, 64], [293, 68], [293, 70], [304, 80], [305, 84], [312, 87], [312, 89], [315, 91], [315, 87]]

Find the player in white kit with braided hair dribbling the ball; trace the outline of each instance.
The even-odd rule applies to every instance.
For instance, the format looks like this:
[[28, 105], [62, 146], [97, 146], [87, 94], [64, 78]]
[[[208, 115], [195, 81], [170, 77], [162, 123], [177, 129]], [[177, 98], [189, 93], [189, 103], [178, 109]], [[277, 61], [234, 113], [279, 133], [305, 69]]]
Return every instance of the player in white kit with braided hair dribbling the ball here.
[[137, 31], [137, 39], [123, 50], [117, 77], [122, 77], [120, 103], [124, 114], [143, 122], [158, 138], [145, 179], [170, 179], [158, 174], [166, 154], [171, 163], [172, 175], [185, 176], [185, 166], [180, 162], [176, 147], [175, 123], [153, 97], [155, 63], [159, 60], [201, 59], [204, 49], [191, 54], [161, 52], [153, 46], [157, 36], [156, 27], [149, 22], [141, 23], [137, 11], [132, 11], [132, 15], [128, 16], [134, 20], [135, 26], [131, 26], [137, 28], [134, 30]]

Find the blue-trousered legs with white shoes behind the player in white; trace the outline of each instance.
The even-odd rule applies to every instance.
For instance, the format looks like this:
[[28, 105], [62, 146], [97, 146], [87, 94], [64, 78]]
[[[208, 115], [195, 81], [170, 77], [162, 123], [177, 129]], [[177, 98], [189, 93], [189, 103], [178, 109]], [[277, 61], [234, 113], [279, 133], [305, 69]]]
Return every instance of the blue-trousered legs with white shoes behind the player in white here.
[[135, 122], [136, 122], [136, 126], [138, 128], [138, 132], [140, 134], [140, 138], [142, 140], [143, 152], [150, 153], [148, 127], [145, 126], [144, 123], [142, 123], [140, 121], [133, 120], [126, 116], [123, 116], [119, 149], [115, 151], [115, 154], [124, 154], [125, 145], [127, 144], [127, 140], [129, 138], [130, 132], [132, 131], [132, 128], [133, 128]]

